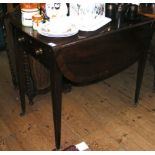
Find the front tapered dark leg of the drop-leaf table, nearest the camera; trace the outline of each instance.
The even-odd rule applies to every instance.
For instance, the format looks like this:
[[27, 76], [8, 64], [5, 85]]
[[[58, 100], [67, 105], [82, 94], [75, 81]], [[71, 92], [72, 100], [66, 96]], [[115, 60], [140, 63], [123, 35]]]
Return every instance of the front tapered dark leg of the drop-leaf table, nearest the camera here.
[[53, 65], [50, 74], [51, 77], [51, 96], [53, 106], [53, 121], [55, 132], [56, 149], [60, 149], [61, 141], [61, 102], [62, 102], [62, 74], [56, 64]]

